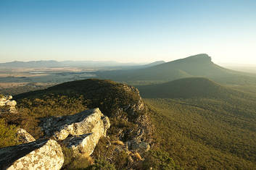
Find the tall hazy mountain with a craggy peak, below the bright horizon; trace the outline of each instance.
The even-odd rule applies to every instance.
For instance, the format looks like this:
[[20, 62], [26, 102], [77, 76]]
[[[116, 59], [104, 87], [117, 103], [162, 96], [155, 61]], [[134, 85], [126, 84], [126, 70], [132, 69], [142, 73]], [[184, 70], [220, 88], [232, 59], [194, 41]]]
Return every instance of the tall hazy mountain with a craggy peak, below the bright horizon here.
[[226, 69], [212, 62], [207, 54], [197, 54], [185, 59], [157, 64], [143, 69], [99, 72], [99, 77], [116, 81], [162, 81], [168, 82], [186, 77], [207, 77], [218, 82], [228, 82], [230, 84], [252, 81], [255, 77], [244, 77], [245, 73]]

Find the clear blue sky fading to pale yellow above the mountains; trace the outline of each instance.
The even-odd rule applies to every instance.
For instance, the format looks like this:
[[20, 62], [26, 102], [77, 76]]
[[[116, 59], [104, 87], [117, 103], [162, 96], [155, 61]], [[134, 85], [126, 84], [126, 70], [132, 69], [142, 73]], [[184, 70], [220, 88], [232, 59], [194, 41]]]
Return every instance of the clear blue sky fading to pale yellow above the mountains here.
[[256, 64], [252, 0], [0, 0], [0, 62]]

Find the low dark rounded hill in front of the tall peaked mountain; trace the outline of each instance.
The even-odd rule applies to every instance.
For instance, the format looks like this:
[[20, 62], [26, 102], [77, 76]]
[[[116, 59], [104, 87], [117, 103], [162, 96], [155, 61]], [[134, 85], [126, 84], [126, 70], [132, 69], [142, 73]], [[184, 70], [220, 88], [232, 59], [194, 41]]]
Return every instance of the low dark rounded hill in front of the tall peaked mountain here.
[[143, 98], [219, 98], [232, 91], [202, 77], [183, 78], [155, 85], [140, 85], [137, 88]]

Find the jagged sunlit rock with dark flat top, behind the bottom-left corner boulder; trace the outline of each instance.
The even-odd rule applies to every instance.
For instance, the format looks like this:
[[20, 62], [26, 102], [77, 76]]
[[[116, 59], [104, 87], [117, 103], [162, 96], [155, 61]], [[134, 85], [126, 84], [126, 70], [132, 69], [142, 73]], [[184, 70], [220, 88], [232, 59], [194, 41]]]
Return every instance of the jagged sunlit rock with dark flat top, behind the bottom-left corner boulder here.
[[46, 136], [63, 140], [62, 143], [76, 154], [90, 156], [101, 137], [106, 137], [110, 119], [99, 109], [82, 111], [69, 116], [42, 119], [41, 127]]

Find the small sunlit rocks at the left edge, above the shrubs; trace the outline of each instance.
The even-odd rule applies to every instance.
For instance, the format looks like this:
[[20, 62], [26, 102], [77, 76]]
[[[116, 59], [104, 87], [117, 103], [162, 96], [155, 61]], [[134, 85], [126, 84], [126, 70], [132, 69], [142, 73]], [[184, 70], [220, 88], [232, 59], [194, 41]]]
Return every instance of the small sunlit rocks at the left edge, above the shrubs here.
[[16, 105], [17, 102], [12, 100], [12, 95], [2, 96], [0, 98], [0, 107], [2, 112], [9, 111], [15, 114], [17, 113], [15, 108]]

